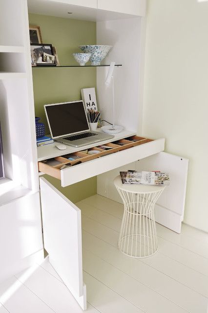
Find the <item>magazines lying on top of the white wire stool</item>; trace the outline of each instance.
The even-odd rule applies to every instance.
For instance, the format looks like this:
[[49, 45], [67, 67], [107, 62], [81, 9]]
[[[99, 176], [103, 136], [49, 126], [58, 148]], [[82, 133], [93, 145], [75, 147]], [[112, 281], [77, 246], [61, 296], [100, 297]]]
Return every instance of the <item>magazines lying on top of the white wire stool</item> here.
[[168, 173], [156, 172], [137, 172], [128, 170], [127, 172], [120, 172], [123, 184], [144, 184], [144, 185], [157, 185], [167, 186], [170, 179]]

